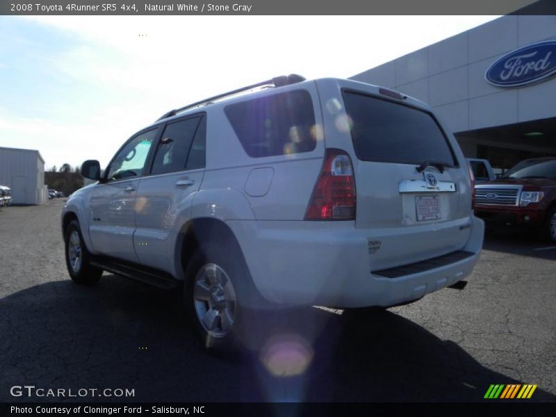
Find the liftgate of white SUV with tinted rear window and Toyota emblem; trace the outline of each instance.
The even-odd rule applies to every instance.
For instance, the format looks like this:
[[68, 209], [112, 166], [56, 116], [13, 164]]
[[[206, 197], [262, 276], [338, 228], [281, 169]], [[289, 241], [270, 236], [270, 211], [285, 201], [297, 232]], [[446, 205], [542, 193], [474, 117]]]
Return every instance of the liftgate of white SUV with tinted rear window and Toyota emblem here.
[[327, 147], [352, 155], [355, 227], [368, 230], [373, 268], [461, 249], [470, 231], [471, 193], [455, 141], [415, 100], [370, 85], [340, 86], [338, 94], [342, 111], [336, 106], [336, 116], [327, 117]]

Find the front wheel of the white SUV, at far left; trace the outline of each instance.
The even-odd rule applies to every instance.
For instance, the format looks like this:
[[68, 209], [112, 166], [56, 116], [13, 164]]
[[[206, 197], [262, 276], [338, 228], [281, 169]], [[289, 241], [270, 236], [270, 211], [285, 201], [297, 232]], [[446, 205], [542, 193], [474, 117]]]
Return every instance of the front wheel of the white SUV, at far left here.
[[[75, 251], [77, 250], [75, 244], [77, 238], [79, 238], [79, 263], [75, 261]], [[77, 220], [72, 220], [70, 224], [67, 225], [64, 241], [65, 264], [67, 266], [67, 272], [69, 272], [70, 277], [72, 277], [72, 281], [81, 285], [97, 283], [102, 275], [102, 270], [90, 265], [90, 254], [83, 242], [83, 236], [81, 236], [81, 229], [79, 229], [79, 222], [77, 222]]]

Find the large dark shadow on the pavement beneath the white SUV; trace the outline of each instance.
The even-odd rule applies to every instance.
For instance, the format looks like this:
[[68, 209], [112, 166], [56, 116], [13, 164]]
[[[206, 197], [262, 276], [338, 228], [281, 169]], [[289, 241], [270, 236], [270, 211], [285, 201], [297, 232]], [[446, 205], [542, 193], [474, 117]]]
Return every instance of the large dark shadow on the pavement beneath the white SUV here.
[[[260, 317], [259, 352], [206, 354], [177, 293], [113, 275], [69, 280], [0, 300], [1, 401], [10, 386], [135, 389], [130, 401], [483, 401], [490, 384], [517, 382], [389, 311], [341, 315], [300, 309]], [[523, 383], [534, 384], [534, 381]], [[542, 391], [534, 400], [555, 401]]]

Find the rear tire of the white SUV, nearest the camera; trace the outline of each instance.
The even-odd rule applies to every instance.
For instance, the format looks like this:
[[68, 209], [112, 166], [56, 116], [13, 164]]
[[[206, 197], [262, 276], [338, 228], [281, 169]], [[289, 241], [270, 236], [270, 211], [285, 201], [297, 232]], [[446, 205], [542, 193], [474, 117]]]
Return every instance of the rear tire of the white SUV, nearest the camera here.
[[[256, 291], [243, 255], [238, 253], [238, 249], [231, 250], [233, 247], [234, 245], [224, 243], [202, 245], [190, 259], [186, 269], [186, 283], [183, 286], [186, 312], [199, 341], [213, 353], [238, 353], [256, 349], [253, 337], [258, 333], [257, 318], [261, 317], [261, 313], [272, 310], [270, 304]], [[208, 284], [213, 271], [219, 277], [216, 281], [229, 281], [229, 284], [222, 286], [222, 291], [218, 284]], [[195, 293], [199, 281], [204, 286]], [[229, 285], [233, 290], [234, 302], [230, 301]], [[210, 300], [199, 299], [199, 294], [206, 296], [205, 291], [212, 294]], [[224, 300], [219, 300], [219, 291], [222, 294], [220, 298]], [[215, 305], [217, 308], [213, 309]], [[211, 315], [208, 313], [210, 310], [213, 311]], [[230, 312], [233, 312], [233, 324], [228, 326]], [[202, 321], [204, 316], [209, 317], [205, 324]], [[224, 316], [227, 317], [225, 320]], [[207, 322], [213, 325], [213, 330], [208, 329], [211, 326], [207, 327]], [[247, 332], [247, 329], [252, 332]]]

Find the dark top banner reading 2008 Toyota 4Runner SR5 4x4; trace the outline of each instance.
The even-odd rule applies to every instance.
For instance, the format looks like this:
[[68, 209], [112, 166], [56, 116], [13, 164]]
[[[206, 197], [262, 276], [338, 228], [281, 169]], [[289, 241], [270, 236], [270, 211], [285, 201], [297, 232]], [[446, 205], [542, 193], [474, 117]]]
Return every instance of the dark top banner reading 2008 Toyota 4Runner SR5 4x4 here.
[[[209, 0], [210, 1], [210, 0]], [[0, 0], [0, 15], [553, 14], [552, 0]]]

